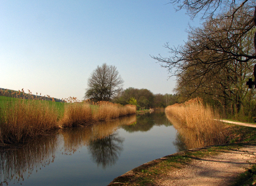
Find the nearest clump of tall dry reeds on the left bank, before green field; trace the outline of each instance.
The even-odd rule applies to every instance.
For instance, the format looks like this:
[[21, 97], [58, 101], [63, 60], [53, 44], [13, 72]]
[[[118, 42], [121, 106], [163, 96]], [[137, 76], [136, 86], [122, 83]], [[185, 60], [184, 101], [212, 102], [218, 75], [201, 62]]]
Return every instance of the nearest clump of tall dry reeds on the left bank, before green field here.
[[0, 142], [18, 143], [58, 126], [58, 111], [48, 102], [15, 99], [0, 107]]

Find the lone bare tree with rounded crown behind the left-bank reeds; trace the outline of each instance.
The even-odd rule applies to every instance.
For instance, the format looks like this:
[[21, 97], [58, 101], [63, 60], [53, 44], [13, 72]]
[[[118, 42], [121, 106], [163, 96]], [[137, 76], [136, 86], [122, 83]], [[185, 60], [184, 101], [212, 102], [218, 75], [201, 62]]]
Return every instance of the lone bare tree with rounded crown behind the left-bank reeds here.
[[84, 98], [93, 101], [109, 101], [122, 91], [123, 83], [124, 80], [118, 75], [116, 67], [104, 63], [92, 72], [87, 82], [88, 88], [85, 89]]

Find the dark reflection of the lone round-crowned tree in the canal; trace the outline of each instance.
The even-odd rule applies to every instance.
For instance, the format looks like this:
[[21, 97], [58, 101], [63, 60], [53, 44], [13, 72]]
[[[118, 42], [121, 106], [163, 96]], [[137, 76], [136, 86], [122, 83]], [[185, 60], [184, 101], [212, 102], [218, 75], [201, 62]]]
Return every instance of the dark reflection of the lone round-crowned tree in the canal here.
[[123, 151], [124, 138], [117, 133], [93, 140], [89, 143], [88, 149], [93, 160], [103, 168], [114, 165], [121, 151]]

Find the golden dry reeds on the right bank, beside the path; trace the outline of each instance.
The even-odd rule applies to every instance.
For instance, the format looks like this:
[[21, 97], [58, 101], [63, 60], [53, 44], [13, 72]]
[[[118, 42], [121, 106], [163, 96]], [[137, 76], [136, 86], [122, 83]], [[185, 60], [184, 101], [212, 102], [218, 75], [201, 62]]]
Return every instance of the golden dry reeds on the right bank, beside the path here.
[[178, 119], [184, 128], [191, 129], [195, 143], [201, 146], [226, 142], [225, 127], [220, 122], [219, 115], [200, 98], [168, 106], [165, 113]]

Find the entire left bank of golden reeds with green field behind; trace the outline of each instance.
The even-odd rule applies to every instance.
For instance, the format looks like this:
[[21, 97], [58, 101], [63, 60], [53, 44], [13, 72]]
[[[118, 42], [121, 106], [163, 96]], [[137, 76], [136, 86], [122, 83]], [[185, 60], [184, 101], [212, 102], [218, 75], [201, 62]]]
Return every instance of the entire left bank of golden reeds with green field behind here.
[[62, 127], [88, 125], [136, 113], [133, 105], [60, 103], [0, 97], [0, 143], [20, 143]]

